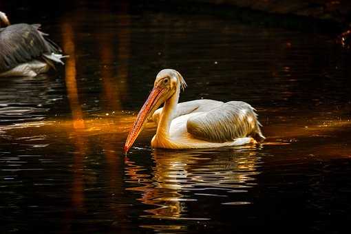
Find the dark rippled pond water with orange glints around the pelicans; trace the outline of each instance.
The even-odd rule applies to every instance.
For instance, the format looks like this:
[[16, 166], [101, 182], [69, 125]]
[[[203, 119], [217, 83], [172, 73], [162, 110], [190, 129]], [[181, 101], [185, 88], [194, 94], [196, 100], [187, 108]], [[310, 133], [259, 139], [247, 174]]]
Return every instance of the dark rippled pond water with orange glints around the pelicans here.
[[[348, 227], [351, 55], [331, 36], [127, 3], [5, 10], [13, 23], [42, 23], [70, 58], [48, 75], [1, 78], [1, 233]], [[165, 67], [188, 83], [181, 101], [251, 103], [266, 142], [153, 150], [150, 124], [124, 156]]]

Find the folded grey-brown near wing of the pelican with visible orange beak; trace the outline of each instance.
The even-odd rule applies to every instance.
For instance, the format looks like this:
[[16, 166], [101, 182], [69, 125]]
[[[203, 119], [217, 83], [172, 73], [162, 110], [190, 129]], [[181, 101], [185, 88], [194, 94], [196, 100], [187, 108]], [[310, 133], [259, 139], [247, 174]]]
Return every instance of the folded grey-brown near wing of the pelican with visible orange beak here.
[[264, 140], [255, 109], [248, 103], [231, 101], [211, 111], [191, 116], [187, 131], [195, 138], [209, 142], [227, 142], [251, 136]]

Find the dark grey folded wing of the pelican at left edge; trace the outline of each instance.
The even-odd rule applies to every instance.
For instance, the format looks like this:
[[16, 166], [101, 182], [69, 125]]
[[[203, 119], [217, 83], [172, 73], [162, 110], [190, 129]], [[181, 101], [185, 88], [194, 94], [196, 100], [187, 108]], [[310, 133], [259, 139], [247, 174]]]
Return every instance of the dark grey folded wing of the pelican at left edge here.
[[44, 39], [40, 25], [19, 23], [1, 28], [0, 31], [0, 73], [21, 63], [27, 63], [44, 54], [61, 52], [52, 41]]

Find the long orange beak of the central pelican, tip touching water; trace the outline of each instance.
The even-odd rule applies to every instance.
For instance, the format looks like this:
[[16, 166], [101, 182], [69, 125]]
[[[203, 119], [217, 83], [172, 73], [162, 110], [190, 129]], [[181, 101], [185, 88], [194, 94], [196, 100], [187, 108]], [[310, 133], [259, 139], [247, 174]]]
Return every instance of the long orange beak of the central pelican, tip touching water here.
[[131, 145], [133, 145], [134, 141], [139, 136], [140, 131], [142, 130], [142, 127], [144, 126], [147, 118], [150, 116], [150, 114], [153, 114], [151, 112], [154, 112], [156, 110], [156, 104], [158, 103], [158, 100], [161, 96], [160, 94], [162, 94], [163, 90], [164, 89], [162, 87], [153, 87], [151, 90], [149, 97], [147, 98], [144, 105], [142, 105], [138, 116], [136, 116], [133, 127], [131, 127], [131, 130], [129, 131], [127, 140], [125, 141], [125, 153], [129, 151]]

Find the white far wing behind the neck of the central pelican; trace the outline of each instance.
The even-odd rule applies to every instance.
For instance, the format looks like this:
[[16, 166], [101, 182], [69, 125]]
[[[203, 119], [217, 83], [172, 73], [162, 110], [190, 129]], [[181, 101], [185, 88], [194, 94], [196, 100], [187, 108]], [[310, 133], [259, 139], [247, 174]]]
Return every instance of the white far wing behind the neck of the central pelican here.
[[[193, 112], [200, 112], [200, 111], [210, 111], [211, 109], [215, 109], [222, 105], [223, 102], [219, 100], [210, 100], [210, 99], [199, 99], [199, 100], [190, 100], [189, 102], [178, 103], [177, 109], [173, 118], [177, 118], [179, 116], [183, 116], [184, 114], [190, 114]], [[160, 114], [162, 108], [157, 109], [153, 115], [152, 120], [155, 123], [158, 123], [160, 119]]]

